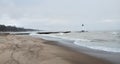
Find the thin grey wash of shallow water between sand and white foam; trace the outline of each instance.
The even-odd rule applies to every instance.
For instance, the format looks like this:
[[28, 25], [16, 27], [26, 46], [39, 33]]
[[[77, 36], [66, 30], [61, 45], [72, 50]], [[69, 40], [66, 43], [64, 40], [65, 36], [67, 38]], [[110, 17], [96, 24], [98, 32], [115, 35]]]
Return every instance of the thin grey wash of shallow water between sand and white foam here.
[[64, 40], [64, 39], [59, 39], [59, 38], [54, 38], [54, 37], [48, 37], [48, 36], [33, 36], [35, 38], [43, 38], [45, 40], [52, 40], [56, 41], [56, 43], [59, 46], [69, 48], [70, 50], [73, 50], [78, 53], [83, 53], [87, 54], [96, 58], [104, 59], [109, 62], [112, 62], [113, 64], [120, 64], [120, 54], [116, 52], [107, 52], [107, 51], [102, 51], [102, 50], [97, 50], [97, 49], [91, 49], [83, 46], [78, 46], [75, 45], [72, 41], [69, 40]]

